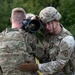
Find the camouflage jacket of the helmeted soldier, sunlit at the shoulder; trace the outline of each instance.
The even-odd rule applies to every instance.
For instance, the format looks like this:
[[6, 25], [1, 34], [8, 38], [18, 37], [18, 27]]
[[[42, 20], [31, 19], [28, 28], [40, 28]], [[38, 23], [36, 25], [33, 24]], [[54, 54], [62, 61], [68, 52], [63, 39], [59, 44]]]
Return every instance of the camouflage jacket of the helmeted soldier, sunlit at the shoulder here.
[[65, 75], [73, 71], [70, 60], [74, 51], [74, 38], [68, 30], [62, 27], [58, 35], [47, 34], [43, 45], [49, 58], [47, 62], [39, 64], [41, 72], [46, 75]]

